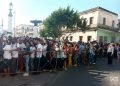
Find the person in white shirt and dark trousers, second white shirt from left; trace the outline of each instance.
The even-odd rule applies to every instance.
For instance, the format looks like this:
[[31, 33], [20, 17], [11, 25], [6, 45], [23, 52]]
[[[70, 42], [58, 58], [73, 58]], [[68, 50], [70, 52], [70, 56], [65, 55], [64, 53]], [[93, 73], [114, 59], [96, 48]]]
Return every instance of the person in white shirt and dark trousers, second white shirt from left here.
[[19, 43], [17, 43], [15, 40], [12, 42], [12, 75], [15, 75], [17, 72], [17, 67], [18, 67], [18, 50], [20, 48]]

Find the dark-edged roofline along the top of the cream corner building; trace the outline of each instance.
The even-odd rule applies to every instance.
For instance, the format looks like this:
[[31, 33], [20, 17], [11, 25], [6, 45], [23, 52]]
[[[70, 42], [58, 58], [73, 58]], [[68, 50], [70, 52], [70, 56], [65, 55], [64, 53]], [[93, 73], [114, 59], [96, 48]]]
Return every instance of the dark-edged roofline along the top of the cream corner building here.
[[109, 13], [112, 13], [112, 14], [114, 14], [114, 15], [118, 16], [118, 14], [117, 14], [117, 13], [112, 12], [112, 11], [107, 10], [107, 9], [105, 9], [105, 8], [102, 8], [102, 7], [95, 7], [95, 8], [91, 8], [91, 9], [88, 9], [88, 10], [86, 10], [86, 11], [82, 11], [82, 12], [80, 12], [80, 14], [85, 14], [85, 13], [89, 13], [89, 12], [98, 11], [99, 9], [100, 9], [100, 10], [103, 10], [103, 11], [106, 11], [106, 12], [109, 12]]

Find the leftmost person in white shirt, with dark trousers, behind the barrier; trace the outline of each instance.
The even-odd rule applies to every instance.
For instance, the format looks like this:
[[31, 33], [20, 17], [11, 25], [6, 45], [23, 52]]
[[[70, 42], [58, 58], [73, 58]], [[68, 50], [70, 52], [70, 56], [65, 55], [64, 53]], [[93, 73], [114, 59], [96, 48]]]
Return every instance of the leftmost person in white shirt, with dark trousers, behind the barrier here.
[[11, 68], [11, 45], [10, 43], [6, 42], [5, 46], [3, 47], [4, 50], [4, 54], [3, 54], [3, 58], [4, 58], [4, 76], [8, 76], [10, 73], [10, 68]]

